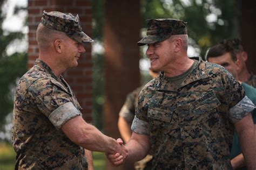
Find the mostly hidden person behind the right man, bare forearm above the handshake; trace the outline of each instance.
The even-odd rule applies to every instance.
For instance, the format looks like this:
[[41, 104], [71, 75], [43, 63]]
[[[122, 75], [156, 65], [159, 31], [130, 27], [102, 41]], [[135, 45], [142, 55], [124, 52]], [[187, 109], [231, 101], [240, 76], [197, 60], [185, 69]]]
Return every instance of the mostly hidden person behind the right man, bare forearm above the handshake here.
[[[152, 79], [154, 79], [159, 73], [154, 72], [150, 68], [149, 74], [152, 77]], [[138, 87], [126, 96], [125, 103], [119, 112], [118, 129], [125, 143], [127, 143], [132, 136], [131, 125], [132, 125], [133, 118], [135, 116], [135, 109], [138, 104], [138, 95], [140, 90], [142, 90], [142, 88], [143, 86]], [[137, 169], [137, 170], [151, 169], [152, 168], [151, 160], [152, 160], [152, 155], [150, 154], [146, 155], [144, 159], [134, 163], [134, 169]]]

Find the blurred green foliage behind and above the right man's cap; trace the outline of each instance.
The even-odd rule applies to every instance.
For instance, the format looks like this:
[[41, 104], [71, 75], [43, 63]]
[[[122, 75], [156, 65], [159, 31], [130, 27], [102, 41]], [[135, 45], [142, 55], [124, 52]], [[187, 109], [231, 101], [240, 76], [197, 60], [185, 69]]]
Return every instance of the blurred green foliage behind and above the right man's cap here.
[[[150, 18], [176, 18], [187, 22], [190, 45], [200, 49], [204, 56], [207, 48], [226, 38], [239, 37], [240, 1], [220, 0], [142, 0], [142, 23]], [[209, 16], [215, 17], [207, 22]]]

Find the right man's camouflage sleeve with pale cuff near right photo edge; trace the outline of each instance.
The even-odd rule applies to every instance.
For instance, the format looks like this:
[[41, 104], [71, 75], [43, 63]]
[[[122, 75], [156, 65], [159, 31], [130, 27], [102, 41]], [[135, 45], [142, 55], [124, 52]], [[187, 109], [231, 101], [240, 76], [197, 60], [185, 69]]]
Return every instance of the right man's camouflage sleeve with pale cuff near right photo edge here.
[[229, 72], [224, 72], [225, 94], [230, 108], [228, 117], [231, 123], [236, 123], [254, 109], [254, 104], [245, 96], [241, 84]]

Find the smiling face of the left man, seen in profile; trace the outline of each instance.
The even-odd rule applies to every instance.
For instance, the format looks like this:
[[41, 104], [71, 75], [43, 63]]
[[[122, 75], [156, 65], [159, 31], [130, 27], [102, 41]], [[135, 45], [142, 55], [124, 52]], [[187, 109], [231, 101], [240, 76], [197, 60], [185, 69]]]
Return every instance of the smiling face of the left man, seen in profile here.
[[84, 46], [71, 38], [66, 38], [63, 42], [63, 55], [60, 60], [65, 68], [76, 67], [81, 53], [85, 52]]

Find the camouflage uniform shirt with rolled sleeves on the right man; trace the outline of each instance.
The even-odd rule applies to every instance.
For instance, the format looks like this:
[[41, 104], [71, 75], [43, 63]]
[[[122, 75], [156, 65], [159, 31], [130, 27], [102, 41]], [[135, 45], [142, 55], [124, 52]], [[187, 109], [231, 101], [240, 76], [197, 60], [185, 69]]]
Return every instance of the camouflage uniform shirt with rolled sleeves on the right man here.
[[254, 104], [223, 67], [193, 59], [179, 87], [162, 72], [139, 94], [132, 130], [150, 136], [152, 169], [232, 169], [233, 124]]

